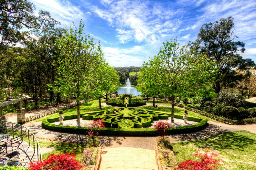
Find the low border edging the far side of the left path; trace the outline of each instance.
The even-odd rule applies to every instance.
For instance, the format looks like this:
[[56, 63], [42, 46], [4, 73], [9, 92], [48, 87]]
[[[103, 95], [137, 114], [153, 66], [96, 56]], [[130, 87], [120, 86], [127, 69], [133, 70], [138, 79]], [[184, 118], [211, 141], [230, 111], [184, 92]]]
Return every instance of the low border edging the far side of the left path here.
[[[93, 99], [87, 100], [87, 102], [90, 102], [90, 101], [93, 101]], [[81, 101], [80, 104], [84, 104], [84, 102], [85, 101]], [[69, 106], [64, 106], [64, 107], [61, 107], [61, 108], [58, 108], [58, 109], [54, 109], [54, 110], [51, 110], [51, 111], [48, 111], [48, 112], [45, 112], [45, 113], [35, 114], [35, 115], [32, 115], [32, 116], [29, 116], [29, 117], [25, 118], [25, 123], [36, 120], [36, 119], [39, 119], [41, 117], [45, 117], [45, 116], [54, 114], [54, 113], [58, 113], [60, 110], [67, 110], [67, 109], [70, 109], [70, 108], [73, 108], [73, 107], [76, 107], [76, 106], [77, 106], [77, 103], [71, 104]]]

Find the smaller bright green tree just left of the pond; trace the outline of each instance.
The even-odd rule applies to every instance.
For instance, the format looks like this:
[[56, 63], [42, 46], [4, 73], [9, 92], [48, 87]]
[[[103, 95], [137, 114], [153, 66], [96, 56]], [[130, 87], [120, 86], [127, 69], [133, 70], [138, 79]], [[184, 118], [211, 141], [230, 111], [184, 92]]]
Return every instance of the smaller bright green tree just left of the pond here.
[[91, 77], [92, 93], [99, 99], [99, 107], [101, 109], [101, 98], [108, 92], [113, 92], [119, 87], [119, 77], [113, 67], [109, 66], [105, 61], [98, 67], [95, 75]]

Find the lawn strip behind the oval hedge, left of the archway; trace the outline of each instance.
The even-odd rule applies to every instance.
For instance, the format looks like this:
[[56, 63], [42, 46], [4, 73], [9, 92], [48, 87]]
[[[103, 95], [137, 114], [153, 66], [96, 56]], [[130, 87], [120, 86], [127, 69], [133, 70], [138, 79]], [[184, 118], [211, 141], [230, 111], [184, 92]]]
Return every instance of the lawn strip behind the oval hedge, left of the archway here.
[[[81, 104], [80, 105], [80, 114], [81, 113], [86, 113], [86, 112], [92, 112], [92, 111], [98, 111], [98, 110], [108, 110], [108, 109], [113, 109], [113, 107], [109, 106], [101, 106], [101, 109], [99, 107], [99, 100], [93, 100], [91, 102], [88, 102], [86, 104]], [[77, 107], [73, 107], [67, 110], [63, 111], [64, 115], [63, 116], [69, 116], [69, 115], [76, 115], [77, 114]], [[46, 117], [42, 117], [40, 119], [35, 120], [34, 122], [42, 121], [45, 119], [52, 119], [59, 117], [59, 113], [55, 113]]]

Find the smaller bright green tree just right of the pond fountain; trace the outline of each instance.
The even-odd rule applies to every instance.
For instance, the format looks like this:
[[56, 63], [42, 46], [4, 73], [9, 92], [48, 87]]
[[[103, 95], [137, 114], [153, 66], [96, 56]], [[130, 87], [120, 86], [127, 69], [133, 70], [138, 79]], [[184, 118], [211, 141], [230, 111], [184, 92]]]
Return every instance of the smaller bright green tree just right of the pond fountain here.
[[155, 107], [155, 97], [161, 94], [161, 88], [159, 88], [158, 76], [155, 75], [157, 72], [156, 67], [152, 65], [145, 65], [140, 69], [140, 74], [138, 75], [137, 89], [141, 91], [142, 94], [153, 96], [153, 107]]

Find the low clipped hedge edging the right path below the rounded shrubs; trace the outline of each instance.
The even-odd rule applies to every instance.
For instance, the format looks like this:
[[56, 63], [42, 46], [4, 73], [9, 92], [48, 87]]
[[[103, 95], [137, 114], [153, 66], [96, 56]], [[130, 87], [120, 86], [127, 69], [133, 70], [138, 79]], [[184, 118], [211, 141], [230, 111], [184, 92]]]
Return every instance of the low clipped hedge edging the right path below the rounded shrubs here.
[[201, 114], [203, 116], [209, 117], [211, 119], [214, 119], [214, 120], [220, 121], [222, 123], [226, 123], [226, 124], [239, 125], [239, 124], [256, 123], [256, 117], [246, 118], [246, 119], [241, 119], [241, 120], [231, 120], [231, 119], [227, 119], [225, 117], [219, 117], [219, 116], [216, 116], [214, 114], [210, 114], [210, 113], [207, 113], [207, 112], [204, 112], [204, 111], [201, 111], [201, 110], [190, 108], [188, 106], [185, 106], [184, 108], [189, 110], [189, 111]]

